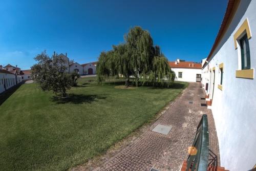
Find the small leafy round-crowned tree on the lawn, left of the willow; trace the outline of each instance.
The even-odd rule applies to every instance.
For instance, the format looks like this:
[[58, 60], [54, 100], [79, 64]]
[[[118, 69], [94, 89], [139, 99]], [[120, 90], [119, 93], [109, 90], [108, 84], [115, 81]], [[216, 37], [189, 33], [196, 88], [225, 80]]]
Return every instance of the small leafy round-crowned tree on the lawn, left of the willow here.
[[34, 58], [37, 63], [32, 67], [32, 76], [43, 91], [53, 91], [65, 97], [66, 91], [71, 88], [73, 80], [66, 71], [62, 58], [54, 54], [49, 57], [46, 51]]

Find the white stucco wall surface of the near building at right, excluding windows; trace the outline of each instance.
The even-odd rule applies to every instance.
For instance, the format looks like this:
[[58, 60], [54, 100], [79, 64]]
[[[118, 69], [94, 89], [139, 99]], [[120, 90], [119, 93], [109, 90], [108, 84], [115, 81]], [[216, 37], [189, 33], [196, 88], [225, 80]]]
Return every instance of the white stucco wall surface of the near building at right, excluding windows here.
[[[216, 67], [215, 85], [212, 85], [212, 113], [220, 147], [221, 166], [229, 170], [249, 170], [256, 164], [256, 1], [241, 1], [237, 13], [209, 61], [209, 69]], [[234, 48], [233, 35], [248, 19], [252, 37], [249, 39], [251, 68], [254, 79], [237, 78], [239, 48]], [[224, 63], [223, 89], [219, 64]], [[208, 66], [202, 71], [202, 83], [210, 80]]]

